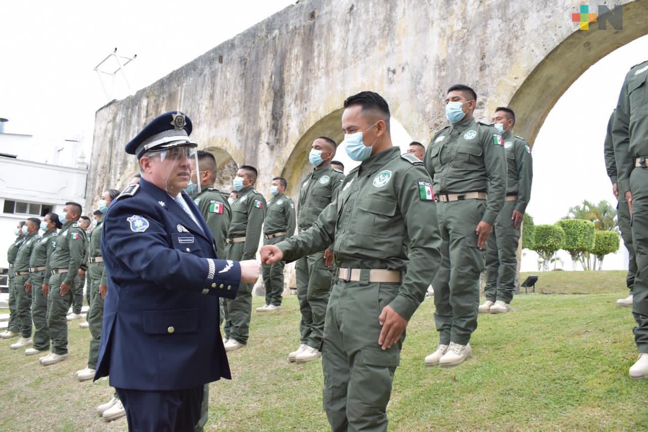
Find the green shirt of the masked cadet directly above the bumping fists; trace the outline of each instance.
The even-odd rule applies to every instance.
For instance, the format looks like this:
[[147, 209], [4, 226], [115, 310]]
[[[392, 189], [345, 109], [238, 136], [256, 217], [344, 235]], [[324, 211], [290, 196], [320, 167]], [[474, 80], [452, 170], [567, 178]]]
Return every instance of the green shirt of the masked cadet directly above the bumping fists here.
[[245, 237], [243, 259], [254, 259], [259, 248], [261, 226], [266, 217], [266, 199], [251, 187], [237, 193], [232, 203], [232, 220], [229, 222], [227, 238]]

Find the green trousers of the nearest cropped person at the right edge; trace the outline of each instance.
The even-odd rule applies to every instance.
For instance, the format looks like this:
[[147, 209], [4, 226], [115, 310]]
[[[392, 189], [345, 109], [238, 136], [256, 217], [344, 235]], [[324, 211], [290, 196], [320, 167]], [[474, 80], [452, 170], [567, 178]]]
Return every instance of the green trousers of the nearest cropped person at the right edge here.
[[630, 174], [632, 191], [632, 237], [637, 261], [632, 295], [632, 315], [637, 323], [634, 342], [641, 354], [648, 354], [648, 168]]

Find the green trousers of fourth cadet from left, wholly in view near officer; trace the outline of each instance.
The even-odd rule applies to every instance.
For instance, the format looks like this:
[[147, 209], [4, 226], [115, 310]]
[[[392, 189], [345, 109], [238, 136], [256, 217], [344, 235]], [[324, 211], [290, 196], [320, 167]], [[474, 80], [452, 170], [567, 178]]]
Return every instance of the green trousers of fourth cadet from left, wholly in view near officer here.
[[70, 291], [61, 295], [61, 283], [66, 274], [56, 273], [49, 278], [49, 295], [47, 296], [47, 328], [52, 339], [54, 354], [67, 354], [67, 309], [72, 302], [72, 293], [78, 278], [74, 279]]

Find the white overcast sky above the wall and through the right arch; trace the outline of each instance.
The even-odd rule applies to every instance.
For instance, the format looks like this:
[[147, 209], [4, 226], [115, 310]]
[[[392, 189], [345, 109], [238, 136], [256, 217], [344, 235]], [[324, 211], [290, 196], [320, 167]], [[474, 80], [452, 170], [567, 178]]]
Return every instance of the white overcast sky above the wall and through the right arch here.
[[[134, 93], [293, 3], [2, 2], [0, 117], [10, 119], [7, 132], [33, 134], [43, 142], [54, 136], [85, 137], [89, 145], [95, 111], [106, 103], [93, 67], [113, 48], [137, 54], [126, 67]], [[646, 53], [648, 36], [614, 51], [590, 67], [551, 110], [533, 149], [527, 211], [536, 224], [557, 221], [583, 199], [613, 202], [603, 163], [605, 128], [625, 73]], [[116, 96], [124, 95], [118, 89]], [[394, 138], [402, 145], [409, 136], [402, 131]]]

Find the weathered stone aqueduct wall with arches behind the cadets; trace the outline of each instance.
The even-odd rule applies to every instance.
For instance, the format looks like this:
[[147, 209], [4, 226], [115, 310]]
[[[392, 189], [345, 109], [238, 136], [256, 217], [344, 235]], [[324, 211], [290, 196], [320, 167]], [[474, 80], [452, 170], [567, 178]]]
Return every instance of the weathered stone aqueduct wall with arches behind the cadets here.
[[[476, 117], [498, 105], [518, 115], [531, 144], [564, 91], [594, 62], [648, 34], [648, 0], [615, 0], [623, 29], [579, 30], [577, 0], [301, 0], [218, 45], [131, 97], [97, 111], [86, 196], [137, 171], [124, 145], [162, 112], [181, 109], [192, 138], [219, 167], [284, 176], [295, 197], [310, 143], [341, 141], [341, 103], [373, 90], [412, 137], [427, 143], [446, 124], [445, 89], [478, 91]], [[602, 2], [601, 2], [602, 3]], [[596, 5], [594, 5], [596, 7]], [[599, 21], [604, 19], [599, 16]], [[636, 62], [647, 57], [637, 53]], [[620, 80], [614, 85], [621, 84]]]

